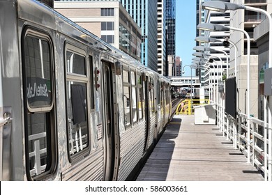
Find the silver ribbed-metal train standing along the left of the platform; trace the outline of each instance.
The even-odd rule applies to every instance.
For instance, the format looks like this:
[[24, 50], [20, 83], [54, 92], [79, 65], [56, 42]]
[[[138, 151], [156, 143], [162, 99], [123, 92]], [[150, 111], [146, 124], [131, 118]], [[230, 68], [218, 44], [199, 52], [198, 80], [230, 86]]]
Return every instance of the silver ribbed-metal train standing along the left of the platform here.
[[133, 180], [170, 82], [38, 1], [0, 0], [1, 180]]

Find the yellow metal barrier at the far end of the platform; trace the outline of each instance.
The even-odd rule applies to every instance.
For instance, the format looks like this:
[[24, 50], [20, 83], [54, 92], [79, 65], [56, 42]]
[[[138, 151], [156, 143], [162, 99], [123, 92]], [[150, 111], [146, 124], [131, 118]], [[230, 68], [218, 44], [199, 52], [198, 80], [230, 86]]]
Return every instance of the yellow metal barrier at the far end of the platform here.
[[[200, 102], [205, 102], [205, 103], [200, 103]], [[205, 105], [205, 104], [210, 104], [210, 100], [204, 99], [204, 100], [183, 100], [178, 107], [176, 107], [176, 114], [194, 114], [194, 109], [193, 106], [197, 105]]]

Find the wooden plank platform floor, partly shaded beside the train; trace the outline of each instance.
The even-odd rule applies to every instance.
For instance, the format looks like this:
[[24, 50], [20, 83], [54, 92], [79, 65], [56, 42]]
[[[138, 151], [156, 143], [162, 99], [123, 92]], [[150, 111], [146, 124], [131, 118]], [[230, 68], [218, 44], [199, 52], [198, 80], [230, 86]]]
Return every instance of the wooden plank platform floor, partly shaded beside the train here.
[[216, 125], [195, 125], [194, 116], [174, 116], [138, 181], [263, 181], [262, 174]]

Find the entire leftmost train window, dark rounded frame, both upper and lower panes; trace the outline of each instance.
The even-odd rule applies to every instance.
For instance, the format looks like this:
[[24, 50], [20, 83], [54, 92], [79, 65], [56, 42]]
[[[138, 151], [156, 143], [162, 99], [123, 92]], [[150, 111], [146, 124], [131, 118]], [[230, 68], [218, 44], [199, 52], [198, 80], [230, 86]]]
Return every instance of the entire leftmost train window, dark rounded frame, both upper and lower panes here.
[[42, 180], [56, 165], [53, 47], [49, 36], [31, 29], [22, 40], [27, 178]]

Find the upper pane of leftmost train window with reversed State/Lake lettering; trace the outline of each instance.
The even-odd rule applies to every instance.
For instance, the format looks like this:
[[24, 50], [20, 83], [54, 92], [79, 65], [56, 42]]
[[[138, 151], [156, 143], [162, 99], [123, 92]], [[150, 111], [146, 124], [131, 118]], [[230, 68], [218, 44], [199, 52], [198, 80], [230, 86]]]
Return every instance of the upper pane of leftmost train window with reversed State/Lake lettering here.
[[52, 68], [50, 45], [47, 40], [27, 36], [24, 48], [29, 109], [52, 109]]

